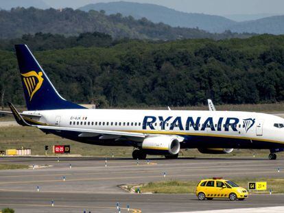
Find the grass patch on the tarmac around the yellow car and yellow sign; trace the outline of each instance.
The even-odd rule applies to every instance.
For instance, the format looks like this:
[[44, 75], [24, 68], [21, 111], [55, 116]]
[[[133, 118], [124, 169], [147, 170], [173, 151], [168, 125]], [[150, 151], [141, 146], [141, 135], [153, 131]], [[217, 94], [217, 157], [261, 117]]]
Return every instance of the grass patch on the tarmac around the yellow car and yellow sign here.
[[[252, 191], [251, 193], [269, 193], [271, 189], [273, 193], [284, 193], [284, 179], [280, 178], [259, 178], [259, 179], [231, 179], [236, 184], [241, 187], [248, 189], [249, 181], [267, 181], [268, 190], [265, 191]], [[159, 181], [150, 182], [144, 184], [139, 189], [142, 193], [152, 192], [152, 193], [163, 193], [163, 194], [185, 194], [185, 193], [195, 193], [198, 181]]]

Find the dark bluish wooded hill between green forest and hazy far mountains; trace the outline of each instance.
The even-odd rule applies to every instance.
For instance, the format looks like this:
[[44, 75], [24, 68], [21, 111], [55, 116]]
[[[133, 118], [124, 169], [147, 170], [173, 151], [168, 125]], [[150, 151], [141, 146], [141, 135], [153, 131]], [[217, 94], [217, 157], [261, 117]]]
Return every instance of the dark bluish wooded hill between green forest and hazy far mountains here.
[[101, 32], [113, 38], [139, 38], [151, 40], [176, 40], [182, 38], [246, 38], [251, 34], [210, 34], [200, 29], [170, 27], [154, 24], [146, 18], [135, 20], [121, 14], [106, 15], [104, 12], [83, 12], [65, 8], [39, 10], [16, 8], [0, 11], [0, 38], [20, 38], [23, 34], [37, 32], [77, 36], [83, 32]]

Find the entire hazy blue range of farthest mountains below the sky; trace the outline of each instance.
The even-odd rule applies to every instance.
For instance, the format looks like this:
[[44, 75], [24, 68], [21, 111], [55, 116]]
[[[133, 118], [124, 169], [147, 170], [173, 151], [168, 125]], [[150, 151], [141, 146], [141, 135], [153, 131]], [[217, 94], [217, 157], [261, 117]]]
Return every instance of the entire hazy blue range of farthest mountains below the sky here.
[[161, 5], [127, 1], [91, 3], [79, 8], [79, 10], [104, 10], [106, 14], [117, 14], [119, 12], [123, 16], [145, 17], [154, 23], [163, 22], [172, 27], [198, 27], [207, 32], [222, 33], [230, 30], [237, 33], [284, 34], [284, 16], [236, 22], [223, 16], [180, 12]]

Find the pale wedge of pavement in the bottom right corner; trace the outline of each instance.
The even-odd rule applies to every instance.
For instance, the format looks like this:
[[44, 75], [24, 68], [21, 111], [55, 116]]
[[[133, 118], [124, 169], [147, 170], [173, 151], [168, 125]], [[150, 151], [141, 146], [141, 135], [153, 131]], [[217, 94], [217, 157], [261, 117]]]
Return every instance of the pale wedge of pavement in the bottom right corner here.
[[274, 206], [274, 207], [263, 207], [263, 208], [242, 208], [242, 209], [232, 209], [232, 210], [209, 210], [209, 211], [194, 211], [194, 212], [171, 212], [171, 213], [239, 213], [239, 212], [250, 212], [250, 213], [283, 213], [284, 206]]

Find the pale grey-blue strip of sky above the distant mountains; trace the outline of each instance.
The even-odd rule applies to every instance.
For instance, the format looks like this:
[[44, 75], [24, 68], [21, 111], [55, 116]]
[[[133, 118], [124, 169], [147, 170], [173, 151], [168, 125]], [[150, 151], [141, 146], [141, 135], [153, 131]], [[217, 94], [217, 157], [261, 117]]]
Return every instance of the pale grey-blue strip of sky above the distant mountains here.
[[[43, 0], [54, 8], [79, 8], [88, 3], [119, 0]], [[126, 1], [126, 0], [125, 0]], [[154, 3], [182, 12], [204, 14], [283, 14], [284, 0], [128, 0], [138, 3]]]

